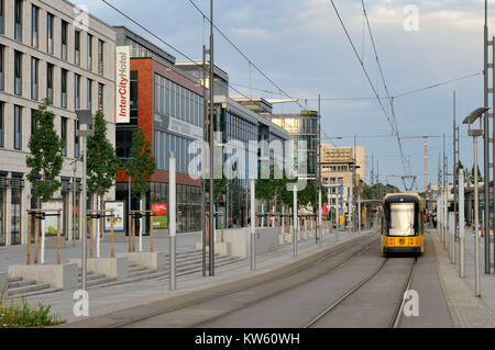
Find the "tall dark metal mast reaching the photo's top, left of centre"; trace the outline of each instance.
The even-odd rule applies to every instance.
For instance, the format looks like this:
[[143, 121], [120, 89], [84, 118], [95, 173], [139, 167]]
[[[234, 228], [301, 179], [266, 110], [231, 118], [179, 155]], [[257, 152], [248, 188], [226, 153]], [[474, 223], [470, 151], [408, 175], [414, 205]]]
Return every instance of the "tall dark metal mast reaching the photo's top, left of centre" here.
[[209, 272], [210, 276], [215, 275], [215, 189], [213, 189], [213, 147], [215, 147], [215, 117], [213, 117], [213, 0], [210, 0], [210, 249], [209, 249]]

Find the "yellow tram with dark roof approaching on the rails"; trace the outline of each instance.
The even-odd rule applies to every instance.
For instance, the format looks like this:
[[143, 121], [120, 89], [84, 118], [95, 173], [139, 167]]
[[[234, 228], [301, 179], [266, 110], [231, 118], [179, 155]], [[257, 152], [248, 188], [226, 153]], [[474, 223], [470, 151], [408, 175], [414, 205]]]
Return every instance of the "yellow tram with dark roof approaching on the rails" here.
[[417, 193], [388, 193], [382, 202], [381, 252], [425, 252], [424, 203]]

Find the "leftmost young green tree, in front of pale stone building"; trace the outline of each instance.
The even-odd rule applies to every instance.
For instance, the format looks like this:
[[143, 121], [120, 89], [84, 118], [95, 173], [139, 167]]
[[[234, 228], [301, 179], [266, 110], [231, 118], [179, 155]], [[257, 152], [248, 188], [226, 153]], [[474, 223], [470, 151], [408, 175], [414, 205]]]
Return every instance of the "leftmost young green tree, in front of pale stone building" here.
[[55, 131], [55, 114], [47, 109], [51, 104], [50, 99], [44, 99], [34, 112], [35, 128], [29, 142], [31, 156], [25, 161], [28, 168], [31, 168], [28, 180], [35, 187], [40, 206], [42, 202], [50, 201], [61, 188], [61, 181], [56, 177], [61, 173], [64, 161], [64, 142]]

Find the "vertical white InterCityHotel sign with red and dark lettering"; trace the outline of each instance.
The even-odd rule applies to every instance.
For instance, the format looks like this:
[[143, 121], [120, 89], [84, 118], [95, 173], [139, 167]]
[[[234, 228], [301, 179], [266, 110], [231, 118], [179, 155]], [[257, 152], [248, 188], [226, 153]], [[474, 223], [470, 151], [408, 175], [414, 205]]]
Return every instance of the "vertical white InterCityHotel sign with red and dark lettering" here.
[[131, 46], [117, 46], [116, 123], [130, 122]]

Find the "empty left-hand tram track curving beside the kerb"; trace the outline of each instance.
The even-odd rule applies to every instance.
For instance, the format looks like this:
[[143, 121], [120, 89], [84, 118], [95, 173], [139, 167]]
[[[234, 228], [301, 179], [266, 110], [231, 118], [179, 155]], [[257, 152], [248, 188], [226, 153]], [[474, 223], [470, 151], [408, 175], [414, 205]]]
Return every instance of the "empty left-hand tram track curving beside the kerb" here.
[[[316, 273], [315, 276], [311, 276], [311, 279], [317, 279], [319, 276], [322, 276], [324, 274], [328, 274], [328, 273], [330, 273], [332, 271], [336, 271], [336, 270], [342, 268], [343, 266], [348, 264], [350, 261], [352, 261], [355, 258], [358, 258], [359, 256], [363, 255], [365, 251], [367, 251], [373, 246], [375, 246], [376, 244], [380, 242], [378, 238], [370, 239], [371, 237], [372, 237], [372, 235], [365, 237], [367, 239], [365, 240], [364, 248], [359, 249], [355, 253], [352, 253], [349, 258], [343, 259], [343, 261], [341, 260], [338, 263], [332, 264], [329, 268], [322, 268], [321, 269], [322, 271], [318, 271], [318, 273]], [[363, 245], [363, 242], [361, 240], [353, 240], [353, 241], [343, 245], [339, 249], [329, 252], [328, 255], [321, 257], [320, 259], [318, 259], [318, 260], [316, 260], [316, 261], [314, 261], [314, 262], [311, 262], [311, 263], [309, 263], [309, 264], [307, 264], [305, 267], [301, 267], [299, 269], [296, 269], [296, 270], [292, 271], [290, 273], [283, 274], [283, 275], [279, 275], [279, 276], [273, 279], [273, 280], [270, 280], [268, 283], [280, 282], [284, 279], [288, 279], [290, 276], [300, 274], [301, 272], [308, 271], [308, 270], [310, 270], [312, 268], [319, 268], [319, 267], [321, 267], [323, 264], [323, 262], [328, 261], [329, 259], [337, 258], [340, 255], [349, 252], [350, 249], [352, 249], [353, 247], [359, 246], [359, 245]], [[297, 287], [297, 286], [306, 283], [307, 280], [308, 279], [304, 279], [302, 281], [299, 281], [297, 283], [292, 284], [289, 287], [290, 289]], [[262, 285], [264, 283], [266, 283], [266, 282], [260, 282], [260, 283], [255, 283], [255, 284], [248, 285], [248, 286], [244, 286], [244, 287], [240, 287], [240, 289], [235, 289], [235, 290], [232, 290], [232, 291], [228, 291], [226, 293], [221, 293], [221, 294], [218, 294], [218, 295], [215, 295], [215, 296], [199, 298], [199, 300], [196, 300], [196, 301], [190, 302], [190, 303], [186, 303], [186, 304], [178, 305], [178, 306], [175, 306], [175, 307], [166, 308], [166, 309], [160, 311], [157, 313], [153, 313], [153, 314], [145, 315], [145, 316], [142, 316], [142, 317], [136, 317], [136, 318], [133, 318], [133, 319], [129, 319], [129, 320], [119, 323], [117, 325], [112, 325], [111, 328], [140, 327], [140, 324], [144, 323], [146, 320], [150, 320], [150, 319], [153, 319], [153, 318], [156, 318], [156, 317], [166, 316], [167, 314], [170, 314], [170, 313], [174, 313], [174, 312], [179, 312], [179, 311], [185, 311], [185, 309], [188, 309], [188, 308], [193, 308], [195, 306], [198, 306], [198, 305], [207, 303], [207, 302], [219, 300], [219, 298], [222, 298], [222, 297], [226, 297], [226, 296], [232, 296], [232, 295], [234, 295], [237, 293], [246, 292], [246, 291], [250, 291], [252, 289], [258, 287], [260, 285]], [[287, 291], [286, 289], [282, 289], [282, 290], [278, 290], [276, 292], [268, 293], [267, 295], [264, 295], [262, 297], [255, 298], [254, 301], [244, 303], [240, 307], [235, 307], [235, 308], [233, 308], [231, 311], [222, 313], [221, 315], [217, 315], [215, 317], [208, 318], [208, 319], [202, 320], [200, 323], [196, 323], [193, 326], [188, 326], [188, 327], [206, 327], [207, 325], [212, 324], [216, 320], [219, 320], [219, 319], [221, 319], [221, 318], [223, 318], [226, 316], [229, 316], [229, 315], [231, 315], [231, 314], [233, 314], [235, 312], [239, 312], [241, 309], [244, 309], [244, 308], [246, 308], [249, 306], [253, 306], [253, 305], [255, 305], [257, 303], [266, 301], [270, 297], [274, 297], [276, 295], [279, 295], [279, 294], [282, 294], [283, 292], [286, 292], [286, 291]]]

